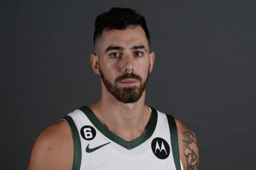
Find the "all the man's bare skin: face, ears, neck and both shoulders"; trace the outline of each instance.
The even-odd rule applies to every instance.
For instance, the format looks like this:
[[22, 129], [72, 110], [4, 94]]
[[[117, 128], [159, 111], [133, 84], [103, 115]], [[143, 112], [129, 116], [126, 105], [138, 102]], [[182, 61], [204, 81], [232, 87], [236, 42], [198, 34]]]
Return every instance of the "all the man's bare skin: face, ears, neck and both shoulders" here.
[[[110, 46], [121, 48], [106, 52]], [[133, 49], [134, 46], [145, 48]], [[145, 32], [139, 25], [124, 30], [103, 31], [95, 45], [95, 52], [90, 55], [93, 71], [99, 75], [101, 69], [112, 83], [126, 72], [140, 75], [144, 82], [148, 71], [150, 73], [153, 70], [155, 54], [150, 53]], [[118, 87], [139, 85], [139, 82], [118, 83]], [[137, 102], [124, 104], [107, 91], [102, 80], [101, 90], [101, 98], [89, 107], [102, 124], [126, 141], [138, 138], [145, 132], [150, 118], [150, 111], [145, 106], [145, 91]], [[198, 169], [195, 166], [199, 161], [197, 141], [193, 138], [195, 135], [187, 126], [175, 121], [182, 165], [184, 169]], [[62, 120], [54, 123], [36, 139], [28, 169], [71, 169], [73, 149], [73, 139], [67, 122]], [[191, 156], [190, 153], [195, 154]]]

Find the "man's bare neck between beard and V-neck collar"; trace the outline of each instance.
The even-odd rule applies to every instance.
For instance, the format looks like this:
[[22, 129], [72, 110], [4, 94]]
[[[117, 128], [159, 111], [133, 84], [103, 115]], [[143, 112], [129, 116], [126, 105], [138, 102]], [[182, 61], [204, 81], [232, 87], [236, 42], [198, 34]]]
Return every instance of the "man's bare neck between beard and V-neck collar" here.
[[131, 141], [138, 138], [147, 128], [150, 110], [144, 103], [145, 91], [141, 98], [132, 104], [121, 103], [111, 94], [102, 93], [102, 98], [89, 107], [106, 128], [126, 141]]

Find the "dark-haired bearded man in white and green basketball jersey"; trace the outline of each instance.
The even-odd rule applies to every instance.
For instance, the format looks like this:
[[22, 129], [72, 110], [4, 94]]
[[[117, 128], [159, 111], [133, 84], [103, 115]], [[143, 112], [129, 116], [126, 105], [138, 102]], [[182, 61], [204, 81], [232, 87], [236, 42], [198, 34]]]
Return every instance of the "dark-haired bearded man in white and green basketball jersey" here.
[[155, 54], [143, 16], [130, 8], [99, 15], [94, 51], [102, 97], [46, 128], [28, 169], [198, 169], [195, 134], [145, 106]]

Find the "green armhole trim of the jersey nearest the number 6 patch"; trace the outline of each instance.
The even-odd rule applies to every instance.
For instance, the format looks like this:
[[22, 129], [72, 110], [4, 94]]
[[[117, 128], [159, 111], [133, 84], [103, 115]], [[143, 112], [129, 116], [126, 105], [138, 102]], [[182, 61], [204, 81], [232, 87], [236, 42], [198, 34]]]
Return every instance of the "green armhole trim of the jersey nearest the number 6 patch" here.
[[62, 117], [60, 120], [65, 120], [69, 124], [72, 137], [73, 137], [73, 143], [74, 143], [74, 158], [73, 158], [72, 170], [78, 170], [80, 169], [80, 166], [81, 166], [82, 150], [81, 150], [81, 141], [80, 141], [78, 130], [76, 128], [76, 124], [70, 116]]

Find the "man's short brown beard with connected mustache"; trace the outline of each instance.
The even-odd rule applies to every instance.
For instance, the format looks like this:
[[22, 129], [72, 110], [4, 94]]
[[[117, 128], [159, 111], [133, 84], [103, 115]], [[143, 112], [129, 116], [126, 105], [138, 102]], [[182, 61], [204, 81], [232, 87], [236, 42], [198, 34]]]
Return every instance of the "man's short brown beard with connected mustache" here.
[[[111, 83], [108, 79], [106, 79], [101, 69], [100, 69], [100, 76], [108, 92], [111, 95], [113, 95], [118, 101], [128, 104], [128, 103], [135, 103], [136, 101], [138, 101], [141, 98], [143, 92], [146, 90], [147, 82], [149, 78], [149, 70], [148, 70], [148, 75], [145, 82], [142, 82], [142, 78], [139, 75], [134, 73], [125, 73], [120, 77], [117, 77], [114, 83]], [[118, 87], [117, 86], [118, 82], [124, 79], [138, 80], [140, 82], [140, 86], [139, 87], [137, 86]]]

